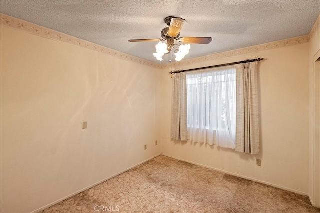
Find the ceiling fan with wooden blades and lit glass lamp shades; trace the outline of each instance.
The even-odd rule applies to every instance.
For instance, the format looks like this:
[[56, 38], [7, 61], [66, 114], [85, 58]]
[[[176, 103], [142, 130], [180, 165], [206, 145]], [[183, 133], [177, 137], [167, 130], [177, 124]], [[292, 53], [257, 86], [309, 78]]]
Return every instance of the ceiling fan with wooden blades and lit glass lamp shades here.
[[[177, 45], [174, 44], [174, 40], [179, 41], [180, 43], [197, 43], [197, 44], [208, 44], [211, 42], [211, 37], [180, 37], [180, 31], [186, 20], [179, 17], [168, 16], [164, 18], [164, 22], [168, 25], [161, 31], [162, 38], [156, 39], [132, 39], [129, 42], [143, 42], [143, 41], [160, 41], [156, 47], [156, 53], [153, 53], [154, 57], [158, 60], [162, 60], [164, 54], [171, 52], [171, 49], [174, 46], [178, 46], [178, 49], [175, 49], [176, 61], [181, 60], [186, 54], [188, 54], [190, 49], [190, 44]], [[162, 43], [162, 41], [167, 41], [167, 43]]]

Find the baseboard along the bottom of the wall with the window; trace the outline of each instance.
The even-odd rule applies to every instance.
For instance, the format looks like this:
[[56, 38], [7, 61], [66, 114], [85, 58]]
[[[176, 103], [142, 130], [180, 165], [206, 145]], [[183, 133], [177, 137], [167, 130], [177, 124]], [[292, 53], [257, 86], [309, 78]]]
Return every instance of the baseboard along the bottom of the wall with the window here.
[[276, 184], [273, 184], [273, 183], [269, 183], [269, 182], [265, 182], [265, 181], [262, 181], [262, 180], [254, 179], [254, 178], [251, 178], [251, 177], [243, 176], [243, 175], [236, 174], [236, 173], [233, 173], [233, 172], [221, 170], [221, 169], [218, 169], [218, 168], [210, 167], [210, 166], [203, 165], [203, 164], [200, 164], [200, 163], [196, 163], [196, 162], [180, 159], [180, 158], [177, 158], [177, 157], [172, 157], [172, 156], [169, 156], [169, 155], [166, 155], [166, 154], [161, 154], [161, 155], [167, 156], [167, 157], [171, 157], [173, 159], [181, 160], [181, 161], [184, 161], [184, 162], [188, 162], [188, 163], [191, 163], [191, 164], [194, 164], [194, 165], [199, 165], [199, 166], [202, 166], [202, 167], [205, 167], [205, 168], [209, 168], [209, 169], [212, 169], [212, 170], [220, 171], [222, 173], [226, 173], [226, 174], [230, 174], [230, 175], [233, 175], [233, 176], [241, 177], [243, 179], [248, 179], [248, 180], [252, 180], [254, 182], [259, 182], [259, 183], [263, 183], [263, 184], [266, 184], [266, 185], [270, 185], [270, 186], [273, 186], [275, 188], [280, 188], [280, 189], [283, 189], [283, 190], [286, 190], [286, 191], [291, 191], [291, 192], [294, 192], [294, 193], [297, 193], [297, 194], [306, 195], [306, 196], [309, 195], [308, 193], [305, 193], [305, 192], [302, 192], [302, 191], [294, 190], [294, 189], [291, 189], [291, 188], [286, 188], [286, 187], [283, 187], [283, 186], [280, 186], [280, 185], [276, 185]]

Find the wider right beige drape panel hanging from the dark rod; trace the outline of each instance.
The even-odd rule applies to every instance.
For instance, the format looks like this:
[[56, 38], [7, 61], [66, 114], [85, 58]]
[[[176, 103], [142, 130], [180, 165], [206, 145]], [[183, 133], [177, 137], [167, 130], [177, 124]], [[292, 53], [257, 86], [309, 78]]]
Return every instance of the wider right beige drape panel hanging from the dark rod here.
[[259, 110], [257, 62], [236, 65], [236, 133], [235, 150], [257, 154], [259, 141]]

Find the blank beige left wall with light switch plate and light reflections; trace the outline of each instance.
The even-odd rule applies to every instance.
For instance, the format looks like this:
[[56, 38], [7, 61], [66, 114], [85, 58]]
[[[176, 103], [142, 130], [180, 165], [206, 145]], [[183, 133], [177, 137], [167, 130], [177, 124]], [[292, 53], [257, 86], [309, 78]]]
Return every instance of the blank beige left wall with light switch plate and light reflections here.
[[1, 26], [1, 211], [37, 210], [160, 154], [158, 74]]

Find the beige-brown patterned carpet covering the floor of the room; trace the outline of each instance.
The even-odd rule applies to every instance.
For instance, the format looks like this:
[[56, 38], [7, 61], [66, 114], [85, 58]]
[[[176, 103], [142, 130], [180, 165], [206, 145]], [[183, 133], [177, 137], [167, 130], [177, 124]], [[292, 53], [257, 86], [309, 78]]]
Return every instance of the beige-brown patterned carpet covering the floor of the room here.
[[320, 212], [307, 196], [158, 156], [42, 212]]

